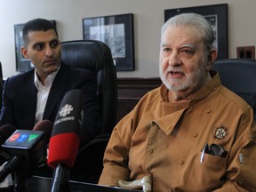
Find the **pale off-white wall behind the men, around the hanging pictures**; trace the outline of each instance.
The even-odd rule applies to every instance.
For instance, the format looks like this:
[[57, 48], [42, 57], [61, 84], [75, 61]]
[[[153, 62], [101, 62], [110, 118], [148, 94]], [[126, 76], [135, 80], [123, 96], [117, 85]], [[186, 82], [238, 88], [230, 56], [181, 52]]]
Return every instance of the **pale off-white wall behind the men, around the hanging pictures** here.
[[158, 76], [160, 28], [164, 10], [205, 4], [228, 4], [229, 58], [236, 47], [256, 44], [255, 0], [0, 0], [0, 61], [4, 78], [17, 74], [14, 24], [34, 18], [57, 21], [61, 41], [83, 38], [82, 19], [133, 13], [135, 70], [118, 77]]

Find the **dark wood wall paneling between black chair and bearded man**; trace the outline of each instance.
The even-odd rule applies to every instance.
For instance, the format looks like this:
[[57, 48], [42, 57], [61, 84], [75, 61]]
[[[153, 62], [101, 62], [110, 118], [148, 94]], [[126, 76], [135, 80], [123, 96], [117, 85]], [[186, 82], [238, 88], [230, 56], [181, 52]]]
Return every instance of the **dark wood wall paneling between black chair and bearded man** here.
[[161, 83], [160, 78], [118, 78], [116, 123], [134, 108], [146, 92]]

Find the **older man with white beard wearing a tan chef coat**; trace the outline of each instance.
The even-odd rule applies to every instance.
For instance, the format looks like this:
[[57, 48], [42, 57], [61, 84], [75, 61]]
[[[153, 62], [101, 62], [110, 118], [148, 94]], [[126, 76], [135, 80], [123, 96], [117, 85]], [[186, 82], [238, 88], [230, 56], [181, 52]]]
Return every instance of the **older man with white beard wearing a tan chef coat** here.
[[99, 184], [136, 188], [136, 180], [149, 177], [154, 192], [255, 191], [252, 108], [220, 84], [213, 41], [201, 15], [164, 23], [163, 84], [116, 125]]

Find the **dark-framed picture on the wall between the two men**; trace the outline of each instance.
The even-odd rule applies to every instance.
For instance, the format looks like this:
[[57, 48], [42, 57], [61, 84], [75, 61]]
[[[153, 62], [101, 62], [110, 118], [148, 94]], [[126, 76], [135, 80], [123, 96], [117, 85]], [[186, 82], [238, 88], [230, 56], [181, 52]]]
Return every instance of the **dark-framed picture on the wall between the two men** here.
[[84, 18], [83, 38], [108, 44], [116, 71], [134, 70], [132, 13]]

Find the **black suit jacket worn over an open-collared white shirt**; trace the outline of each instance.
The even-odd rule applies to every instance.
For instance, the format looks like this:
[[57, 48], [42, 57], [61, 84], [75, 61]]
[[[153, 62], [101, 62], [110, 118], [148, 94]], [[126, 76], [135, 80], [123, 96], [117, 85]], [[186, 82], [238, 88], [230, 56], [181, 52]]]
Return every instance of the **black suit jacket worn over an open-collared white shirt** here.
[[[0, 125], [12, 124], [16, 129], [32, 130], [36, 116], [36, 85], [34, 69], [12, 76], [4, 83]], [[74, 89], [83, 91], [84, 125], [80, 133], [81, 144], [92, 140], [100, 132], [100, 109], [96, 98], [95, 74], [82, 68], [71, 68], [61, 63], [44, 109], [44, 119], [52, 122], [60, 108], [66, 92]]]

